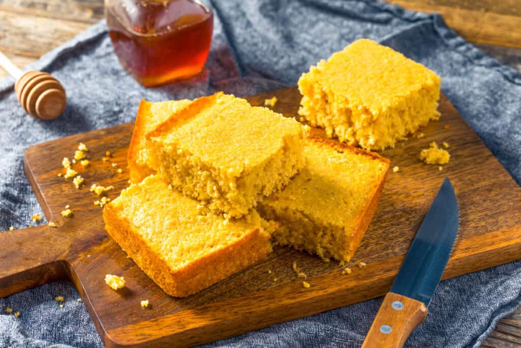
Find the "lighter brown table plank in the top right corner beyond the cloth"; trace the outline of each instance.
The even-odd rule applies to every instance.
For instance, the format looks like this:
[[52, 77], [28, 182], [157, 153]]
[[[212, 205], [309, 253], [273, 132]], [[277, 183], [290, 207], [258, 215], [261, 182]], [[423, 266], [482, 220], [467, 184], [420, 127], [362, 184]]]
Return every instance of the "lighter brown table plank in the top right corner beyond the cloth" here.
[[465, 39], [521, 47], [521, 3], [516, 0], [388, 0], [407, 9], [437, 12]]

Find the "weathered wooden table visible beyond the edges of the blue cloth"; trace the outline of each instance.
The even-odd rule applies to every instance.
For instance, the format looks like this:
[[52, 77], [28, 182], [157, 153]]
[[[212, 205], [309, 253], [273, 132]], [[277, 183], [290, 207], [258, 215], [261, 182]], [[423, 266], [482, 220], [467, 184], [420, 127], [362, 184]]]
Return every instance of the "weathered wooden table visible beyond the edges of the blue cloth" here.
[[[518, 0], [390, 2], [442, 14], [448, 25], [464, 38], [521, 71], [521, 2]], [[22, 67], [102, 18], [103, 0], [0, 0], [0, 51]], [[5, 75], [0, 71], [0, 77]], [[521, 308], [502, 319], [483, 346], [521, 346]]]

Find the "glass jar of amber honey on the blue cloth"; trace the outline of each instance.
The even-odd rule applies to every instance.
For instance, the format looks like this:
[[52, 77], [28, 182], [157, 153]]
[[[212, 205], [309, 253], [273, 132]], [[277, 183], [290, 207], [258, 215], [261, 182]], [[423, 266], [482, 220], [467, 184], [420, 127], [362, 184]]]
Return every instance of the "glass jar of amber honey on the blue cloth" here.
[[198, 0], [105, 0], [119, 61], [147, 87], [188, 78], [206, 61], [214, 17]]

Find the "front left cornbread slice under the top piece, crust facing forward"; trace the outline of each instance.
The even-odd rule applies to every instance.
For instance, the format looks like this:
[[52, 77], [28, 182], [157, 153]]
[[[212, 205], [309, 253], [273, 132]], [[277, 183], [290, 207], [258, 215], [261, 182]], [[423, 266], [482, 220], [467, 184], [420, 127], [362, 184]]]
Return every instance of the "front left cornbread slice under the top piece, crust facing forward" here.
[[132, 184], [103, 209], [108, 234], [172, 296], [188, 296], [271, 251], [276, 224], [255, 210], [226, 220], [151, 175]]

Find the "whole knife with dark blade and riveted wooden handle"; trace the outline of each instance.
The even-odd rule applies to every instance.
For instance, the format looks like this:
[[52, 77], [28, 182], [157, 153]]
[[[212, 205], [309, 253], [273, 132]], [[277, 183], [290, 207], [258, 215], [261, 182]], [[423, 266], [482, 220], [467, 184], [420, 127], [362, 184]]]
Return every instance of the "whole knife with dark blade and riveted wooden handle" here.
[[427, 317], [436, 286], [456, 240], [460, 213], [448, 177], [414, 237], [362, 348], [402, 347]]

